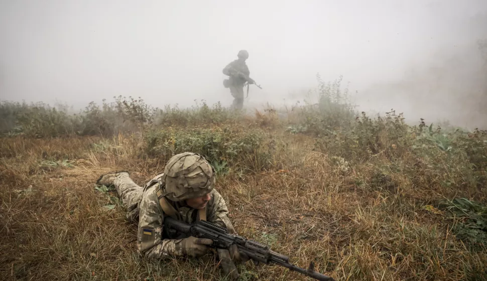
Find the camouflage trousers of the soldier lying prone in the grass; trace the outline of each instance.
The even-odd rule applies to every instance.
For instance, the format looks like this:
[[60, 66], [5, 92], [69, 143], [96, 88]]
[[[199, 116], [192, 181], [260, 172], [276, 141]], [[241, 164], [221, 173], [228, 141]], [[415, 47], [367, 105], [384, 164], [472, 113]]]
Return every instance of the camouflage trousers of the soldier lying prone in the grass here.
[[133, 213], [132, 211], [137, 208], [137, 205], [142, 200], [144, 188], [139, 186], [132, 180], [132, 178], [130, 178], [130, 176], [124, 173], [117, 174], [113, 180], [113, 185], [115, 185], [118, 197], [129, 212], [127, 214], [127, 219], [133, 221], [135, 217], [138, 216], [138, 212]]

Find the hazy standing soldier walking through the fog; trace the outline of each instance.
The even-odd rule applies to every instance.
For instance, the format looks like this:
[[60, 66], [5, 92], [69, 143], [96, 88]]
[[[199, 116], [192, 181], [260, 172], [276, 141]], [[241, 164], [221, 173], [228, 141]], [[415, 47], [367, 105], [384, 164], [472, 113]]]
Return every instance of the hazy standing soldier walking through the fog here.
[[232, 108], [242, 109], [243, 107], [243, 86], [246, 82], [253, 84], [254, 80], [249, 78], [250, 71], [245, 61], [249, 58], [249, 52], [240, 50], [237, 54], [238, 59], [230, 62], [223, 68], [223, 74], [229, 76], [223, 81], [226, 88], [230, 88], [233, 96]]

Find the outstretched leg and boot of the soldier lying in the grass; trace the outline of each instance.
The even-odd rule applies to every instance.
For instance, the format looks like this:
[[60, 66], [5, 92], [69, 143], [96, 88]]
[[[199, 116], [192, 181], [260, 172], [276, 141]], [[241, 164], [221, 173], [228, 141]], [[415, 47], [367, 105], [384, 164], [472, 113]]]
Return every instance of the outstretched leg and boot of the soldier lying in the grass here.
[[104, 174], [96, 181], [98, 185], [115, 186], [118, 197], [126, 208], [139, 203], [142, 198], [142, 186], [135, 183], [128, 172]]

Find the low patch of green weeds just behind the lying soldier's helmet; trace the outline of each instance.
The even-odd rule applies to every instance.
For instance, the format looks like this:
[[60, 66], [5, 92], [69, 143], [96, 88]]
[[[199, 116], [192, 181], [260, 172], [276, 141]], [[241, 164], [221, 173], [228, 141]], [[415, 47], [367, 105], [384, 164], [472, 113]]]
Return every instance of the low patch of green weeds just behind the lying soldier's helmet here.
[[146, 153], [151, 157], [169, 160], [182, 152], [203, 155], [215, 167], [236, 166], [261, 170], [269, 166], [274, 151], [272, 136], [260, 130], [237, 127], [166, 128], [149, 130], [146, 135]]

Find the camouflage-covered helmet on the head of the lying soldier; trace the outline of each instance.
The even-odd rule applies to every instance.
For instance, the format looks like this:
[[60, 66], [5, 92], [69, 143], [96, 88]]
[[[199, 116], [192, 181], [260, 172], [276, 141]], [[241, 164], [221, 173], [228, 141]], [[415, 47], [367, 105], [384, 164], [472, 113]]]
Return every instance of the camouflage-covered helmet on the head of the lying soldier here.
[[215, 186], [215, 171], [203, 156], [184, 152], [169, 159], [161, 181], [167, 199], [184, 201], [211, 192]]

